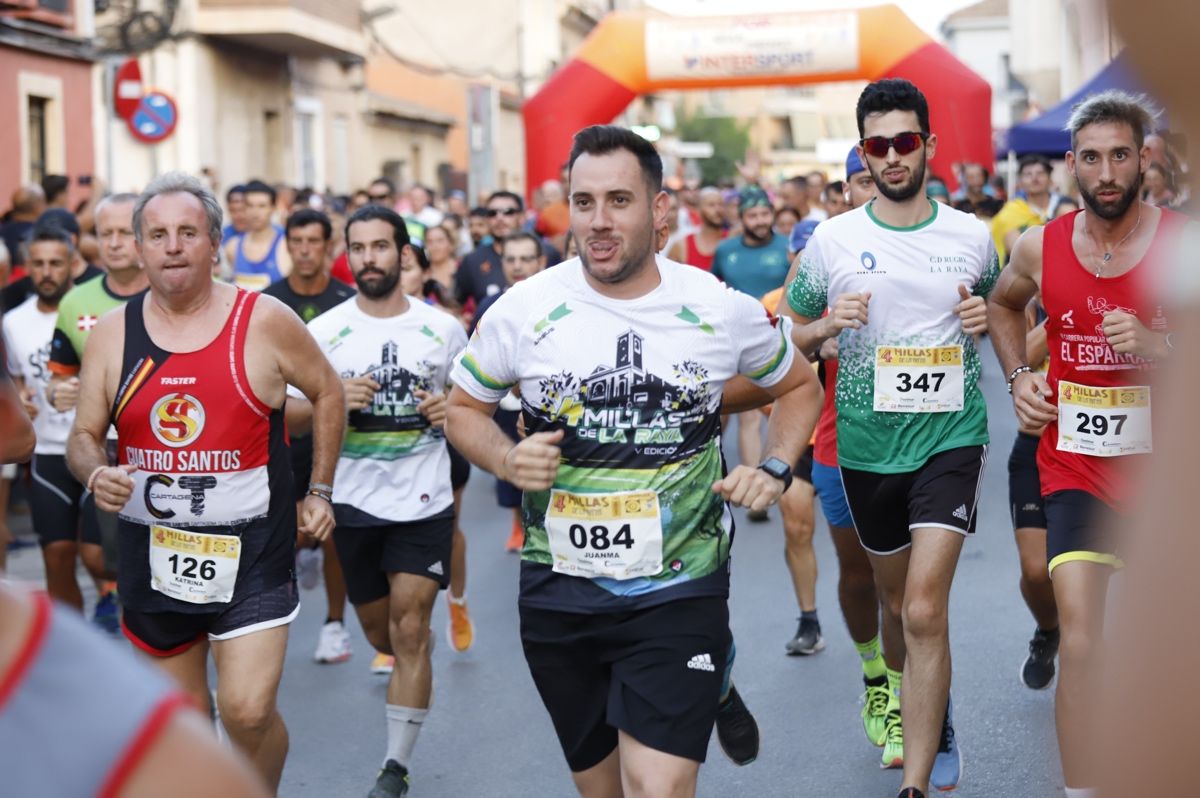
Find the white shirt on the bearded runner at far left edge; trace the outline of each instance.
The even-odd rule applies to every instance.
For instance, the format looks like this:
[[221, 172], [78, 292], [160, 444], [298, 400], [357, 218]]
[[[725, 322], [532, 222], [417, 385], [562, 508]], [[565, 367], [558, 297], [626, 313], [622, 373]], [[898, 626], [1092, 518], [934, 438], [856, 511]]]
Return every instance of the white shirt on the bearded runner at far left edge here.
[[4, 317], [8, 373], [25, 380], [25, 388], [32, 391], [34, 406], [37, 407], [37, 418], [34, 419], [37, 444], [34, 451], [38, 455], [65, 455], [67, 436], [74, 421], [74, 410], [59, 413], [46, 398], [46, 386], [50, 382], [50, 338], [54, 337], [58, 318], [56, 308], [49, 312], [37, 310], [36, 294]]

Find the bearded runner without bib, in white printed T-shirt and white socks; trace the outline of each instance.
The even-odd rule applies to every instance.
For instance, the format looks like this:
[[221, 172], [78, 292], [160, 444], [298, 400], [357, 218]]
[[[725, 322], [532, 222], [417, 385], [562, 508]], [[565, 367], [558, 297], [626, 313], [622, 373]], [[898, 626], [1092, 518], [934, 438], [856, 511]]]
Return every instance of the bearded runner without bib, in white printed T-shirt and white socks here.
[[442, 427], [462, 324], [400, 289], [412, 253], [404, 220], [367, 205], [346, 222], [359, 286], [308, 329], [344, 379], [350, 410], [337, 461], [334, 535], [367, 640], [395, 656], [388, 746], [370, 798], [408, 794], [413, 749], [432, 695], [430, 616], [450, 580], [454, 492]]

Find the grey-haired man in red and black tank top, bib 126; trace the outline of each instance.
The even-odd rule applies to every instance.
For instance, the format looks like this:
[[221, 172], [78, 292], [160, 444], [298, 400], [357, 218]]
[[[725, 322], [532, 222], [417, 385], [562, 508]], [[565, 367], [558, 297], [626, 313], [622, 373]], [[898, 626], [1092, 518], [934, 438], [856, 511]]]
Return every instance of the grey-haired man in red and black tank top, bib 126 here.
[[120, 514], [126, 636], [200, 707], [211, 647], [222, 724], [277, 788], [288, 736], [275, 696], [300, 608], [284, 391], [313, 404], [301, 529], [319, 540], [334, 524], [342, 386], [295, 313], [214, 282], [221, 206], [198, 180], [151, 181], [133, 230], [150, 290], [92, 331], [67, 462], [100, 509]]

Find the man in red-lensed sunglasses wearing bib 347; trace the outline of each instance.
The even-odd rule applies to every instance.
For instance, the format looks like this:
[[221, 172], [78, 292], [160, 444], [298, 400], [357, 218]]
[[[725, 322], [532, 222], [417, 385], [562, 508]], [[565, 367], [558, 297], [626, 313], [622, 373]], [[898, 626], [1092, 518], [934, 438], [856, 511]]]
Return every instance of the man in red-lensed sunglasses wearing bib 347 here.
[[949, 593], [986, 461], [972, 336], [986, 329], [998, 264], [982, 222], [925, 196], [937, 137], [917, 86], [872, 83], [857, 116], [878, 193], [816, 229], [787, 298], [802, 352], [838, 338], [841, 479], [906, 649], [902, 707], [901, 674], [887, 674], [883, 766], [902, 764], [901, 798], [922, 798], [930, 784], [953, 788], [961, 773], [948, 706]]

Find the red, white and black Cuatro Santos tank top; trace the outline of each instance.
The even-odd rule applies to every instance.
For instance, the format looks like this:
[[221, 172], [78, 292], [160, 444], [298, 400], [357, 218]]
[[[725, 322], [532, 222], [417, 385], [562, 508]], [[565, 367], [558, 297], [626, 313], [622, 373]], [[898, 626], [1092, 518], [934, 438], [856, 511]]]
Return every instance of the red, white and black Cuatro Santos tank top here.
[[150, 340], [144, 296], [125, 307], [122, 377], [112, 410], [118, 463], [137, 466], [118, 521], [125, 606], [187, 613], [227, 606], [151, 587], [150, 536], [161, 547], [163, 527], [240, 539], [233, 601], [292, 578], [296, 516], [283, 412], [254, 396], [246, 377], [246, 331], [257, 300], [238, 289], [221, 332], [182, 354]]

